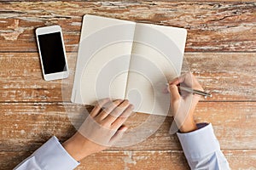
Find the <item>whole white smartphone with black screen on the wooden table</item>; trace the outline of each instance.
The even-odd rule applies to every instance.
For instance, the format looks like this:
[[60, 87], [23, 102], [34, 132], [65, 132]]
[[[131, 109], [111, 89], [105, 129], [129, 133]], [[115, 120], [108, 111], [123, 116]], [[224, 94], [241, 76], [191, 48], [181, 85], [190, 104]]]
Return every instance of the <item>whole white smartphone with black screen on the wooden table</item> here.
[[67, 56], [61, 26], [37, 28], [36, 37], [44, 80], [67, 78]]

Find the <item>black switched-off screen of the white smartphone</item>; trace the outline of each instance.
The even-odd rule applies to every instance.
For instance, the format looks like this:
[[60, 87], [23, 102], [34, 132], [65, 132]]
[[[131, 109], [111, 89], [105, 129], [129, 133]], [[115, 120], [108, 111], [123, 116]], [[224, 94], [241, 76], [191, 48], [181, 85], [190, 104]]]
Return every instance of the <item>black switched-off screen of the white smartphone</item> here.
[[44, 74], [67, 71], [61, 32], [38, 36]]

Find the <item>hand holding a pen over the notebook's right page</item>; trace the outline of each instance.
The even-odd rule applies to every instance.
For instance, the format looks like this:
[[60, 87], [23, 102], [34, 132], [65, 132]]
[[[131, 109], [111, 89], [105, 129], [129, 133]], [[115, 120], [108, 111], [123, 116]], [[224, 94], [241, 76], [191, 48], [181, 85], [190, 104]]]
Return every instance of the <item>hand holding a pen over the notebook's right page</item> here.
[[[200, 96], [181, 91], [179, 93], [177, 85], [203, 91], [192, 73], [187, 73], [169, 82], [169, 92], [171, 94], [171, 108], [174, 121], [182, 133], [188, 133], [197, 129], [194, 121], [195, 106], [200, 100]], [[172, 128], [172, 127], [171, 127]]]

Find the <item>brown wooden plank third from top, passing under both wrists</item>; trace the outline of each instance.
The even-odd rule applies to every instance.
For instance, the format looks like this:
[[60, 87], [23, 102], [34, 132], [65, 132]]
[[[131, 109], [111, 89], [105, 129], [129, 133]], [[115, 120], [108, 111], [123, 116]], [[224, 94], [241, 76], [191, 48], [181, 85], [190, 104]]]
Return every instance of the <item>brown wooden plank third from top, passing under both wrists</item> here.
[[[0, 105], [0, 114], [3, 117], [0, 150], [35, 150], [52, 135], [64, 141], [75, 132], [71, 122], [78, 126], [86, 111], [80, 105], [63, 106], [61, 103]], [[144, 135], [153, 130], [151, 127], [155, 123], [150, 123], [148, 116], [142, 113], [133, 114], [125, 124], [131, 129], [136, 129], [137, 134]], [[212, 122], [222, 149], [256, 149], [255, 102], [200, 102], [195, 117], [196, 122]], [[171, 124], [172, 117], [167, 117], [148, 139], [126, 146], [125, 150], [181, 150], [177, 136], [170, 136], [168, 133]], [[119, 147], [112, 150], [119, 150]]]

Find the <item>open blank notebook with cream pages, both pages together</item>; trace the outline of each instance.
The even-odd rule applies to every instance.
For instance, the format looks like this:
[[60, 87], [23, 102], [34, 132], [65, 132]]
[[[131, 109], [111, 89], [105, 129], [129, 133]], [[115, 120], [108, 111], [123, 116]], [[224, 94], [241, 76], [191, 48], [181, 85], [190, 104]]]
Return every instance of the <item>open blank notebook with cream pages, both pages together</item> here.
[[72, 102], [129, 99], [135, 111], [166, 116], [163, 89], [180, 75], [187, 31], [84, 15]]

